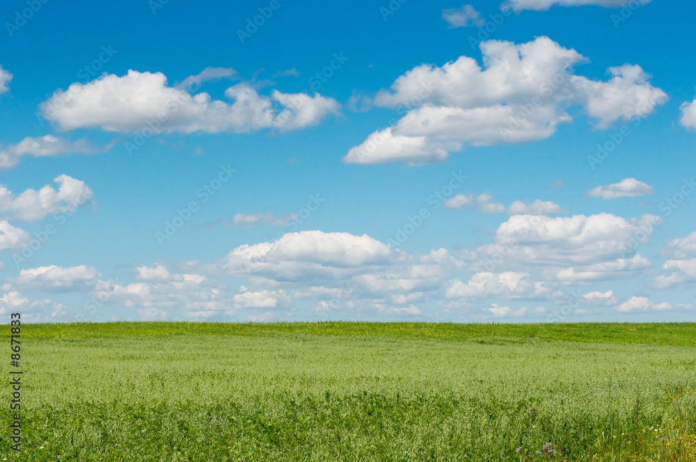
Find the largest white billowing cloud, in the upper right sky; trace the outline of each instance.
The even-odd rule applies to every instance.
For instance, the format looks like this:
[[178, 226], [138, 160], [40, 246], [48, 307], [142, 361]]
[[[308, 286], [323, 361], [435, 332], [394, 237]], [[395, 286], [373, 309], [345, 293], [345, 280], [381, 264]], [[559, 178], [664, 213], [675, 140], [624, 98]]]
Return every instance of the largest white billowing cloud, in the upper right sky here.
[[610, 67], [609, 81], [574, 74], [573, 66], [587, 59], [547, 37], [521, 45], [488, 40], [480, 47], [485, 68], [461, 56], [442, 67], [414, 67], [390, 90], [381, 90], [374, 98], [377, 106], [408, 112], [351, 148], [344, 161], [441, 162], [465, 145], [548, 138], [572, 120], [571, 106], [583, 106], [597, 127], [606, 128], [647, 116], [667, 99], [638, 65]]

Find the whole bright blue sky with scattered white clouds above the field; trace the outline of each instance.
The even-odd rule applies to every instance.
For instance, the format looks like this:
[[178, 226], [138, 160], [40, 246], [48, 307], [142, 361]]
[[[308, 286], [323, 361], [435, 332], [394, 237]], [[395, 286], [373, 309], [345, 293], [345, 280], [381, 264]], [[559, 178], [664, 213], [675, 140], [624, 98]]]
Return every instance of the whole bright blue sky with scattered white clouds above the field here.
[[695, 10], [5, 2], [0, 313], [691, 320]]

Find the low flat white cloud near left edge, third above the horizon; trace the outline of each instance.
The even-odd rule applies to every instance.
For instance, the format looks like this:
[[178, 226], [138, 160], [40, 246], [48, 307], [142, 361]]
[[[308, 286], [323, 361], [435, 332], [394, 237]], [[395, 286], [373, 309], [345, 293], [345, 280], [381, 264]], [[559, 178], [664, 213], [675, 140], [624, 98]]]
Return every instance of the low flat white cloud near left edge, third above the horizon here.
[[92, 289], [97, 285], [99, 271], [93, 266], [39, 266], [38, 268], [22, 269], [19, 276], [10, 279], [3, 289], [19, 287], [22, 289], [40, 290], [44, 292], [66, 292], [80, 289]]

